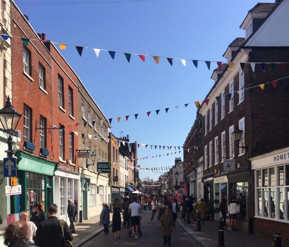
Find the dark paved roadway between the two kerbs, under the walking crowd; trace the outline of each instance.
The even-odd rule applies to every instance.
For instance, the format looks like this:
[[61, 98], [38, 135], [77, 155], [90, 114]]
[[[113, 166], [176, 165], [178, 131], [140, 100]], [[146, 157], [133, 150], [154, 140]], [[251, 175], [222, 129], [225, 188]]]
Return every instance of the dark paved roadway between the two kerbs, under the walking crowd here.
[[[103, 235], [100, 233], [98, 236], [92, 238], [86, 244], [82, 245], [84, 247], [93, 246], [163, 246], [162, 236], [160, 233], [160, 226], [157, 218], [154, 218], [154, 222], [149, 222], [151, 213], [142, 213], [141, 229], [142, 237], [135, 239], [128, 236], [128, 229], [121, 229], [120, 237], [121, 239], [115, 240], [114, 234], [110, 232], [109, 235]], [[111, 227], [110, 227], [111, 231]], [[184, 231], [178, 224], [173, 229], [172, 233], [172, 246], [191, 246], [200, 247], [188, 233]]]

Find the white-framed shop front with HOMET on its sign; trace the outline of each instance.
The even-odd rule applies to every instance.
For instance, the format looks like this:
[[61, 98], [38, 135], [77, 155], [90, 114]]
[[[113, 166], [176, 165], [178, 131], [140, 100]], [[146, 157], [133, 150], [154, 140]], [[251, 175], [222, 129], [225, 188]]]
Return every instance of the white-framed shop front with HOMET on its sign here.
[[[289, 147], [251, 158], [253, 232], [272, 237], [289, 231]], [[270, 227], [268, 227], [270, 226]], [[282, 241], [289, 242], [288, 234]]]

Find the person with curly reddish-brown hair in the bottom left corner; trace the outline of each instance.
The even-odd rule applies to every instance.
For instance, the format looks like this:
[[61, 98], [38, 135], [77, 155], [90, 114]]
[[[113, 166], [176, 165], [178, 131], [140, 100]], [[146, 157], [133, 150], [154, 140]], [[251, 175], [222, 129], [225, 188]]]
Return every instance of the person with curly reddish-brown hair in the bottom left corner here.
[[29, 234], [30, 229], [25, 222], [15, 221], [5, 228], [3, 233], [4, 244], [9, 247], [36, 247], [29, 241]]

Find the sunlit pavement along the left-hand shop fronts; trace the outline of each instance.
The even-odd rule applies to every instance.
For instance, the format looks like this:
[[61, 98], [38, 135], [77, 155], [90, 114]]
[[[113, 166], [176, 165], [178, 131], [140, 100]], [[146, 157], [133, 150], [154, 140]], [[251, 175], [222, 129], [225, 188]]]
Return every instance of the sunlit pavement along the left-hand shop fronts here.
[[[83, 220], [82, 223], [75, 225], [75, 233], [73, 233], [73, 246], [79, 247], [88, 242], [90, 239], [103, 232], [103, 225], [99, 222], [100, 216]], [[112, 224], [112, 213], [110, 213], [110, 225]]]

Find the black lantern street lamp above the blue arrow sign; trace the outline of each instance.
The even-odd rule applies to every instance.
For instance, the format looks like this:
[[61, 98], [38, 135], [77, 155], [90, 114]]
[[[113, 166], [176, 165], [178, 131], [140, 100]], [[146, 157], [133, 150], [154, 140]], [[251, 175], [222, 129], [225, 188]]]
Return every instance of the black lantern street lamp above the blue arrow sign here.
[[21, 118], [22, 114], [14, 110], [10, 97], [7, 97], [7, 101], [5, 106], [0, 110], [0, 122], [4, 129], [4, 133], [6, 134], [8, 140], [8, 150], [5, 152], [8, 154], [8, 157], [11, 158], [13, 156], [13, 141], [12, 137], [15, 135], [15, 129], [18, 125], [18, 122]]

